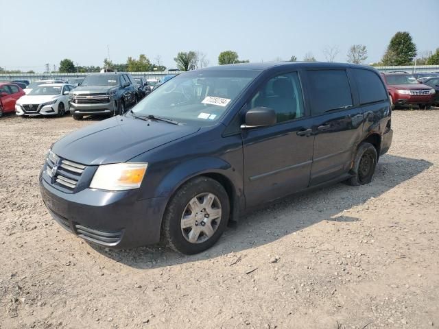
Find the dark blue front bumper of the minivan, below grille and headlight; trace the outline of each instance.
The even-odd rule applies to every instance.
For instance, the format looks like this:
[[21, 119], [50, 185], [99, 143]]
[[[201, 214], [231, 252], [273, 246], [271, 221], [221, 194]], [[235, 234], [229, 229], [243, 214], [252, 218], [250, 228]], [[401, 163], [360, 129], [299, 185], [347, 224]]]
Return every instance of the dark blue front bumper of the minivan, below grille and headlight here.
[[63, 193], [40, 174], [45, 206], [60, 225], [86, 241], [114, 249], [160, 241], [165, 197], [138, 199], [138, 191], [100, 191], [86, 188]]

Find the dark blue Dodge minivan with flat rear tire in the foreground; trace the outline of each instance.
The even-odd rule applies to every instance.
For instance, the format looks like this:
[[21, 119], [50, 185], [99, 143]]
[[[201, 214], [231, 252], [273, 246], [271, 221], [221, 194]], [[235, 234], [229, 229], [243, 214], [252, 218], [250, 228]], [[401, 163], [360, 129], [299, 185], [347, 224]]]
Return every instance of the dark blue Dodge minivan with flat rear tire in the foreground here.
[[369, 183], [392, 143], [390, 116], [369, 66], [189, 71], [54, 143], [40, 191], [54, 219], [86, 241], [164, 241], [195, 254], [244, 210], [324, 184]]

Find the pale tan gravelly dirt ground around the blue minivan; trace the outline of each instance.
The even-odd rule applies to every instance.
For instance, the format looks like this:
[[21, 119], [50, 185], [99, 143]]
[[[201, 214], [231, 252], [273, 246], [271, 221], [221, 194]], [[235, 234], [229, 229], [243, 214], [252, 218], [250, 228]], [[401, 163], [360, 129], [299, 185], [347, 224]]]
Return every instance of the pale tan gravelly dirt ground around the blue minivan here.
[[371, 184], [242, 217], [204, 254], [88, 245], [47, 213], [51, 143], [93, 121], [0, 119], [0, 328], [439, 328], [439, 109], [396, 110]]

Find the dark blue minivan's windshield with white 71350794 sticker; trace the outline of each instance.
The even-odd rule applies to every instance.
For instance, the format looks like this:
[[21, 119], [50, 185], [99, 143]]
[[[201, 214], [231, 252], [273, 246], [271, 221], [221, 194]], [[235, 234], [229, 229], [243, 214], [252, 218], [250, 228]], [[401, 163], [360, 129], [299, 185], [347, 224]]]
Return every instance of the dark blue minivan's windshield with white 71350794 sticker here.
[[166, 82], [134, 106], [137, 116], [211, 125], [219, 120], [260, 71], [193, 71]]

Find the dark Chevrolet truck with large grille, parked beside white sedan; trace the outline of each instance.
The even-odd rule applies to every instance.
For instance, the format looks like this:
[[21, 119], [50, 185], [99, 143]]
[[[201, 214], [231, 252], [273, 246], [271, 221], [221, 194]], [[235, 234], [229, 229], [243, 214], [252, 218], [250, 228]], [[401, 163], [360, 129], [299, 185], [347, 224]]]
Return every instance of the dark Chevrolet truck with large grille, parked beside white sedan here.
[[87, 75], [69, 95], [73, 119], [84, 115], [123, 114], [137, 103], [137, 84], [128, 73], [95, 73]]

